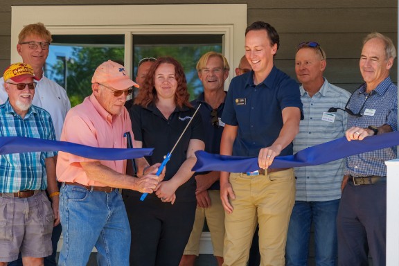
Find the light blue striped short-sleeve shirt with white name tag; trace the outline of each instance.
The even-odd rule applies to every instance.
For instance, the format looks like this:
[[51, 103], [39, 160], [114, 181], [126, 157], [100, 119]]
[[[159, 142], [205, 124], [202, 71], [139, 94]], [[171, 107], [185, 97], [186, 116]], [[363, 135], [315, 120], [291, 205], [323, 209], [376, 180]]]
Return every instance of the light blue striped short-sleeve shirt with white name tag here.
[[[303, 89], [303, 86], [299, 89], [305, 118], [300, 122], [299, 134], [294, 139], [294, 152], [344, 136], [346, 112], [337, 109], [337, 112], [328, 113], [328, 109], [330, 107], [344, 109], [351, 94], [331, 85], [326, 79], [321, 89], [312, 97]], [[344, 159], [320, 166], [294, 168], [294, 170], [296, 200], [321, 202], [341, 197]]]

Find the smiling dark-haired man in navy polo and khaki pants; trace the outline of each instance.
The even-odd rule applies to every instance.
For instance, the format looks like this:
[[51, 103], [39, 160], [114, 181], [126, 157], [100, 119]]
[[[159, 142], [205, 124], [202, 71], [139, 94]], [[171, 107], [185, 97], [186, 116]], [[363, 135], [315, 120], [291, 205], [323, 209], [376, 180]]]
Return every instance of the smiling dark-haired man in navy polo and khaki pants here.
[[299, 86], [276, 69], [279, 37], [263, 21], [245, 33], [245, 57], [253, 71], [231, 80], [222, 114], [220, 153], [258, 157], [259, 170], [221, 172], [226, 235], [224, 265], [246, 265], [259, 222], [261, 265], [284, 265], [285, 241], [295, 199], [292, 168], [272, 168], [274, 157], [292, 154], [302, 103]]

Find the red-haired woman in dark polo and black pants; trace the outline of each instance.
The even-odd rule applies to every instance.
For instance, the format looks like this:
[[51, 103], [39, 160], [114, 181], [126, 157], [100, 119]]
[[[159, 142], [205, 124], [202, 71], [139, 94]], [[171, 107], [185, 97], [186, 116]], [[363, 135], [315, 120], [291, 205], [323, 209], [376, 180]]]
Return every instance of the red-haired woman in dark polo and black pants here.
[[[160, 57], [152, 64], [130, 109], [135, 148], [154, 148], [139, 169], [162, 162], [193, 117], [181, 64]], [[201, 116], [194, 116], [166, 166], [157, 191], [125, 202], [132, 229], [130, 265], [179, 265], [195, 218], [194, 152], [204, 150]]]

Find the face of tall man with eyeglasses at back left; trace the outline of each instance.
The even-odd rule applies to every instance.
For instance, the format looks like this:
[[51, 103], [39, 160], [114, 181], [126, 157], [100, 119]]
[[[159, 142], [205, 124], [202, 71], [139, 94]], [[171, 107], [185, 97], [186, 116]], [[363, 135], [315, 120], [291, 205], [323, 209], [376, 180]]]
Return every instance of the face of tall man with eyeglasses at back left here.
[[[28, 35], [22, 42], [48, 42], [48, 40], [37, 35]], [[17, 44], [17, 51], [24, 63], [30, 64], [33, 69], [42, 69], [48, 56], [48, 49], [42, 50], [40, 45], [36, 49], [31, 49], [28, 44]]]

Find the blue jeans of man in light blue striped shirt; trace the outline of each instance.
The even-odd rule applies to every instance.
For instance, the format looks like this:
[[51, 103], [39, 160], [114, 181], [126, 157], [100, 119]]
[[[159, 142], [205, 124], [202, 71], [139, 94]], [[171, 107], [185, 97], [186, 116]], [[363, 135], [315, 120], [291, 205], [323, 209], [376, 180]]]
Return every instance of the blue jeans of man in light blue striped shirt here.
[[326, 202], [296, 201], [288, 227], [285, 261], [287, 266], [308, 265], [310, 227], [314, 224], [316, 265], [337, 263], [337, 227], [339, 199]]

